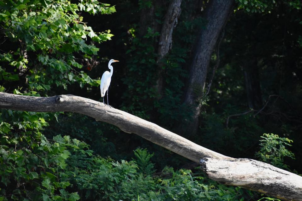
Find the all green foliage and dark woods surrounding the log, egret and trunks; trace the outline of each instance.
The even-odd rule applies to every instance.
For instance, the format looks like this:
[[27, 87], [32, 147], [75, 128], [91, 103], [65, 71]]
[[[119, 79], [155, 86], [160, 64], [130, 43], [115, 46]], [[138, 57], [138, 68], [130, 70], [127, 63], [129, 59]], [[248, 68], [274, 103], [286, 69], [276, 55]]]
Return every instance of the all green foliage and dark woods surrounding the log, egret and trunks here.
[[[301, 2], [235, 2], [219, 67], [200, 100], [198, 133], [184, 137], [301, 174]], [[183, 120], [192, 118], [183, 99], [208, 4], [182, 1], [171, 51], [161, 61], [162, 94], [155, 87], [157, 47], [169, 1], [110, 4], [115, 6], [97, 0], [0, 1], [0, 92], [101, 101], [99, 77], [113, 58], [120, 63], [113, 65], [111, 104], [178, 133]], [[217, 57], [215, 51], [209, 78]], [[0, 114], [0, 201], [261, 198], [213, 182], [183, 157], [90, 117]]]

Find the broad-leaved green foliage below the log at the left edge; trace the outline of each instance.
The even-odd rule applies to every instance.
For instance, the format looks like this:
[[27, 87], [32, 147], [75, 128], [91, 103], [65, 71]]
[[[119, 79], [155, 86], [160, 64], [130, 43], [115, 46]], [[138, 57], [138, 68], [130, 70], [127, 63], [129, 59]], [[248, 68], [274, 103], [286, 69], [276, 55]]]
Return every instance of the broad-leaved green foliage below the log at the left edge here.
[[[21, 94], [19, 90], [14, 92]], [[81, 142], [69, 136], [55, 136], [51, 141], [43, 136], [40, 130], [48, 126], [45, 120], [50, 115], [11, 110], [1, 113], [0, 185], [4, 188], [0, 197], [9, 198], [7, 194], [14, 193], [15, 200], [80, 198], [76, 192], [70, 193], [70, 189], [66, 189], [71, 184], [64, 169], [70, 157], [69, 150], [79, 149]], [[3, 118], [10, 123], [4, 122]]]

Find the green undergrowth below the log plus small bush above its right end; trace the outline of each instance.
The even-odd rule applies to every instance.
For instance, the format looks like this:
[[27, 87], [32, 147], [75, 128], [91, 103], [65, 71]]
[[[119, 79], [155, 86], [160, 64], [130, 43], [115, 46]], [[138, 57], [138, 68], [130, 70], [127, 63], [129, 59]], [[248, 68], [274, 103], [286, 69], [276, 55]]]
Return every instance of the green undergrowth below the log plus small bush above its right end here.
[[[24, 121], [2, 113], [0, 124], [0, 200], [244, 200], [255, 196], [228, 187], [193, 170], [165, 166], [156, 170], [154, 154], [134, 150], [132, 160], [101, 157], [89, 145], [68, 135], [47, 139], [41, 131], [48, 114], [16, 112]], [[41, 116], [44, 114], [44, 116]], [[8, 122], [4, 122], [4, 118]], [[291, 140], [264, 134], [257, 153], [264, 162], [288, 168], [283, 157]]]

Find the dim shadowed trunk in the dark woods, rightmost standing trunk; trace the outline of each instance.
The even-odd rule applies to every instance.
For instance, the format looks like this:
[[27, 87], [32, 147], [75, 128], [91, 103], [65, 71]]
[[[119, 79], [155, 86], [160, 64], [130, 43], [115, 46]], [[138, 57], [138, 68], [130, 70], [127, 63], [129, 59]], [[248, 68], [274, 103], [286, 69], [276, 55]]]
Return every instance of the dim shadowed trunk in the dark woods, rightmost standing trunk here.
[[243, 75], [249, 107], [252, 109], [260, 109], [262, 106], [262, 98], [257, 60], [246, 63], [243, 67]]

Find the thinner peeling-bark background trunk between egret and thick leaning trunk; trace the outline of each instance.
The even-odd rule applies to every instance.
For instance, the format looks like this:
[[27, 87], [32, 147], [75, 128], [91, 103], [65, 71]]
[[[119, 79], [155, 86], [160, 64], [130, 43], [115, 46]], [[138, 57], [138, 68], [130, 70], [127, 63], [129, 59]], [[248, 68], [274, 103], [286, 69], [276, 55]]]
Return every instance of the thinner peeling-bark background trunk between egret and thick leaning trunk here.
[[156, 89], [159, 95], [159, 98], [162, 95], [163, 89], [163, 63], [162, 59], [166, 56], [166, 54], [172, 48], [172, 34], [173, 29], [176, 27], [177, 19], [181, 13], [181, 3], [182, 0], [171, 0], [169, 4], [169, 8], [165, 15], [164, 23], [161, 28], [159, 43], [158, 43], [158, 50], [157, 50], [157, 63], [159, 66], [158, 70], [158, 79], [156, 82]]

